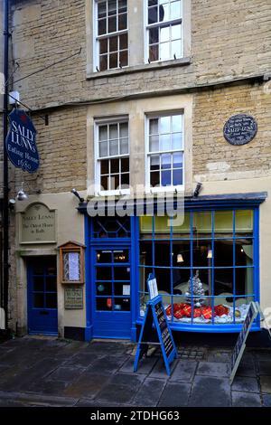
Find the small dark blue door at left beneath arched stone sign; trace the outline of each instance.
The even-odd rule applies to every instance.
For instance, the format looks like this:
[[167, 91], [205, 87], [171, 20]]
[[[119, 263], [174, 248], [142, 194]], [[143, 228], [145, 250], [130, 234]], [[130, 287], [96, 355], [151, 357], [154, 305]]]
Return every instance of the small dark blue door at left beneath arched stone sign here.
[[58, 335], [56, 258], [29, 260], [27, 274], [29, 334]]

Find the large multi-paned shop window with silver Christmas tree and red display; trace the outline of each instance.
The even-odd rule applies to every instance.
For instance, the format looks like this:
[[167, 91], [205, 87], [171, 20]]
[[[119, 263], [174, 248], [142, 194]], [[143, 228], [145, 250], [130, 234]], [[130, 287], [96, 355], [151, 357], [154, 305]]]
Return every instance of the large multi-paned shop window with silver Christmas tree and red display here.
[[185, 213], [181, 226], [141, 217], [140, 315], [152, 272], [173, 323], [243, 322], [256, 299], [253, 222], [253, 210]]

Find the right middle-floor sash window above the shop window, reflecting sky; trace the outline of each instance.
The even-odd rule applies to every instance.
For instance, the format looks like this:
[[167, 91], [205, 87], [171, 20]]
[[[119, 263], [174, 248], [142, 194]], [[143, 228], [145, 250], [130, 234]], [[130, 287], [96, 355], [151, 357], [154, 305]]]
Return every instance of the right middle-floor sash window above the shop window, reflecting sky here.
[[182, 114], [147, 118], [147, 188], [183, 185], [182, 120]]

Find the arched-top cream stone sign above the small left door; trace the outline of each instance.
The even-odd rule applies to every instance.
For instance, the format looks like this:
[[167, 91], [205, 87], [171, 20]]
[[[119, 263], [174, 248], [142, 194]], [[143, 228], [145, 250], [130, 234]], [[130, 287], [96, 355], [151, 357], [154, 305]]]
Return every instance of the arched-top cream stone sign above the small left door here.
[[20, 217], [21, 243], [54, 243], [55, 212], [43, 203], [33, 203]]

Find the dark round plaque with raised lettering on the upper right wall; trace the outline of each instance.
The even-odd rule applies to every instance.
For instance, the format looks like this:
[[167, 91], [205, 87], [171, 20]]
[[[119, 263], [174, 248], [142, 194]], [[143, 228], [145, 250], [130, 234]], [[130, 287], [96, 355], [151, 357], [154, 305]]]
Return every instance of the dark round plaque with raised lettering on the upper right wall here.
[[257, 121], [247, 114], [234, 115], [226, 122], [223, 133], [231, 145], [246, 145], [257, 134]]

